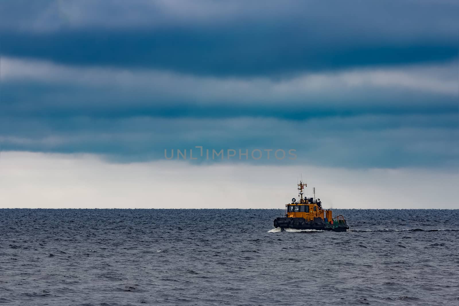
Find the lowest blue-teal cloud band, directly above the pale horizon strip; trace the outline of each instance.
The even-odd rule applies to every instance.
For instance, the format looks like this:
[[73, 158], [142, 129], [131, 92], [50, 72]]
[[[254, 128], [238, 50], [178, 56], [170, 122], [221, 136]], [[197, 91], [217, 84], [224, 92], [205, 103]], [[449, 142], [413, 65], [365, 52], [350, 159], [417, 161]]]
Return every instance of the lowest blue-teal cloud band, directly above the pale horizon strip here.
[[[247, 162], [337, 167], [458, 167], [457, 117], [324, 117], [306, 121], [242, 117], [237, 119], [3, 118], [15, 124], [3, 139], [4, 150], [96, 153], [116, 161], [164, 160], [164, 150], [238, 151], [295, 149], [297, 159]], [[189, 156], [189, 155], [188, 155]], [[175, 158], [177, 156], [175, 155]], [[266, 157], [266, 154], [265, 154]], [[238, 160], [236, 157], [233, 161]], [[188, 158], [188, 161], [190, 159]], [[224, 161], [228, 161], [225, 155]], [[242, 161], [244, 161], [242, 159]], [[205, 162], [199, 159], [196, 162]], [[212, 161], [211, 161], [212, 162]], [[214, 162], [221, 162], [216, 160]]]

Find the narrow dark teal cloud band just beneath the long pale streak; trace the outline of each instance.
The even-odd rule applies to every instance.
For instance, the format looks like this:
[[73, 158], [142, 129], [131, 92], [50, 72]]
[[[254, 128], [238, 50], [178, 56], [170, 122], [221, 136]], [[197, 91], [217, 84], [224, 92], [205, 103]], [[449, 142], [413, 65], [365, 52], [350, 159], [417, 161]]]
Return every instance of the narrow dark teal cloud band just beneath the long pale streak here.
[[[4, 83], [5, 100], [0, 117], [68, 118], [234, 118], [271, 117], [307, 120], [330, 116], [444, 114], [457, 111], [457, 97], [407, 90], [372, 89], [368, 92], [323, 97], [297, 97], [264, 104], [222, 99], [202, 104], [183, 97], [162, 97], [134, 90], [83, 86], [49, 86], [36, 83]], [[367, 89], [368, 90], [368, 89]], [[33, 98], [31, 98], [33, 97]], [[371, 103], [365, 103], [371, 100]], [[415, 101], [415, 102], [413, 102]], [[446, 122], [445, 122], [446, 123]]]

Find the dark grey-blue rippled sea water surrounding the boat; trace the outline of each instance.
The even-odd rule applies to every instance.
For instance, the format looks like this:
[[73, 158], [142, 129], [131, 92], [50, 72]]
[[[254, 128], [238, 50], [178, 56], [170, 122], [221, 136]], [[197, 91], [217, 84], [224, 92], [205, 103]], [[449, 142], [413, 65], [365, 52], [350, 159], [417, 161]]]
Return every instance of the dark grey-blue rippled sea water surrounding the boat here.
[[0, 304], [459, 305], [459, 210], [0, 209]]

